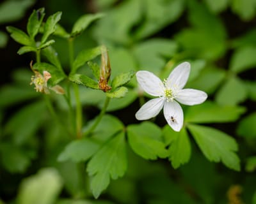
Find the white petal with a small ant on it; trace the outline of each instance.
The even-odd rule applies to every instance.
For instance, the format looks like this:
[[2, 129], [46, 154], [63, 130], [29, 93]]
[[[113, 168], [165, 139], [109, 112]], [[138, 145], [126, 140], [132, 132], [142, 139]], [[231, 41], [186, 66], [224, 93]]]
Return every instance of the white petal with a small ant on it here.
[[174, 131], [179, 132], [183, 126], [183, 111], [176, 101], [164, 103], [164, 117]]

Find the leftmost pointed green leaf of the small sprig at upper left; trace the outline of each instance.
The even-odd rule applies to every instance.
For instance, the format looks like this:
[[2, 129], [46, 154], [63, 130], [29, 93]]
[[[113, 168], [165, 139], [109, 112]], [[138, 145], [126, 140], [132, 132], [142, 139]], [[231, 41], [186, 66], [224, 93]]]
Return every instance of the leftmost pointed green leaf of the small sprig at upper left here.
[[33, 45], [33, 41], [30, 40], [29, 36], [20, 29], [12, 26], [7, 26], [6, 30], [11, 34], [13, 40], [17, 41], [17, 43], [29, 46]]

